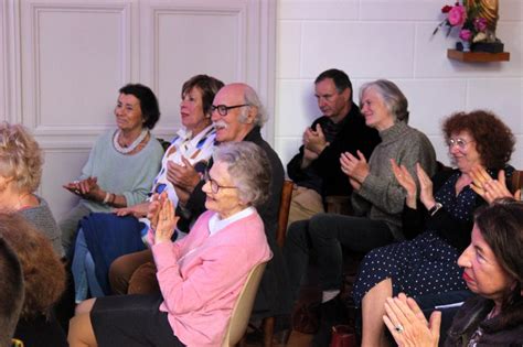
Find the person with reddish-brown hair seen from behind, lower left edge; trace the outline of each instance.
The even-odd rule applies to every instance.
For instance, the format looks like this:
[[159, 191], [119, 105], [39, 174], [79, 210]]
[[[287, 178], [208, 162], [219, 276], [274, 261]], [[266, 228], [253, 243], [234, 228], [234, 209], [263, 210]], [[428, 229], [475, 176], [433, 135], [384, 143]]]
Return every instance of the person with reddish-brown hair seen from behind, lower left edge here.
[[25, 346], [66, 346], [52, 313], [65, 289], [65, 269], [51, 242], [18, 214], [0, 213], [0, 237], [22, 265], [24, 300], [14, 338]]

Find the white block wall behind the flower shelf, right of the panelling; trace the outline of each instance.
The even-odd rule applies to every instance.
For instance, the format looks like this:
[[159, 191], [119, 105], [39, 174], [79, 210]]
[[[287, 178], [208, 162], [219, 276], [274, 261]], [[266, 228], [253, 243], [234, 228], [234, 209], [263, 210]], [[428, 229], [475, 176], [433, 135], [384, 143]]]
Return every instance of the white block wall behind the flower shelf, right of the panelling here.
[[[279, 0], [277, 8], [276, 148], [284, 163], [320, 116], [313, 80], [324, 69], [363, 82], [387, 78], [407, 96], [410, 124], [448, 163], [440, 121], [459, 110], [488, 108], [517, 137], [512, 164], [523, 167], [523, 1], [500, 0], [498, 36], [511, 61], [448, 59], [456, 37], [431, 36], [440, 9], [453, 0]], [[357, 100], [357, 98], [355, 98]]]

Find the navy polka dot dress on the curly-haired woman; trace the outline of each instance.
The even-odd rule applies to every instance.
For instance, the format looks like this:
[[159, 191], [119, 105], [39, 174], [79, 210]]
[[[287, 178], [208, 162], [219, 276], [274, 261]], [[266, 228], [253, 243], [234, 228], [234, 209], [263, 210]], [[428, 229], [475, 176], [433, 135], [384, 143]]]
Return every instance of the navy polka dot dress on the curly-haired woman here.
[[[458, 177], [459, 173], [447, 180], [436, 194], [436, 200], [452, 218], [472, 220], [477, 195], [467, 186], [456, 196]], [[467, 285], [461, 279], [458, 257], [456, 248], [435, 230], [425, 230], [409, 241], [376, 248], [365, 256], [360, 265], [353, 290], [354, 302], [361, 306], [363, 296], [388, 278], [392, 279], [394, 295], [405, 292], [409, 296], [418, 296], [465, 290]]]

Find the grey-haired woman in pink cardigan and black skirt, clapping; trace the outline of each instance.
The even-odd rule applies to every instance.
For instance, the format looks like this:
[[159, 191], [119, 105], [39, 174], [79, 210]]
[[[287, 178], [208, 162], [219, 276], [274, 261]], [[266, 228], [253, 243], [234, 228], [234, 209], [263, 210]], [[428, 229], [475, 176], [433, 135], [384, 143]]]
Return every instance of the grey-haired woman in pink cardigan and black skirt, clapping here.
[[223, 143], [203, 192], [207, 212], [172, 242], [178, 218], [151, 203], [149, 240], [161, 294], [92, 299], [71, 321], [71, 346], [220, 346], [249, 271], [270, 259], [256, 206], [269, 194], [270, 164], [248, 142]]

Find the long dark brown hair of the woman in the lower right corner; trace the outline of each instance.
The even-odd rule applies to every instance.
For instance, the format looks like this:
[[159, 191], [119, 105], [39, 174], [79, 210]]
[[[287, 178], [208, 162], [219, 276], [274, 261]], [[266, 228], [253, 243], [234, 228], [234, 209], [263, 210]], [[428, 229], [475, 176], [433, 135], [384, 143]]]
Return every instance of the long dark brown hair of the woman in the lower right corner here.
[[523, 203], [501, 198], [479, 209], [474, 216], [483, 239], [492, 249], [500, 265], [515, 280], [515, 286], [506, 293], [499, 323], [492, 327], [501, 330], [523, 322]]

